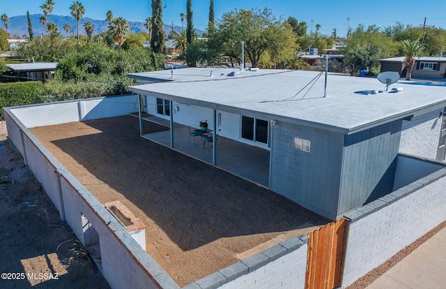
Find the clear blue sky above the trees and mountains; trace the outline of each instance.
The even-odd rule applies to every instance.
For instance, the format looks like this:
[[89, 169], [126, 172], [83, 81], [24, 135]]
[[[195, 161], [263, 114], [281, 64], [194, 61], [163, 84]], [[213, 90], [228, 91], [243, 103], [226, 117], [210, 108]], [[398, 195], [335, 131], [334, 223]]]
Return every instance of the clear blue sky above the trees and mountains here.
[[[39, 6], [44, 0], [0, 0], [0, 14], [6, 13], [9, 17], [26, 15], [29, 13], [42, 13]], [[81, 0], [86, 13], [84, 17], [93, 19], [105, 19], [107, 10], [112, 10], [115, 17], [122, 16], [128, 21], [143, 22], [151, 15], [151, 0]], [[208, 24], [210, 0], [192, 0], [192, 10], [194, 11], [194, 27], [206, 30]], [[72, 1], [55, 0], [53, 14], [70, 15], [69, 7]], [[164, 0], [167, 5], [163, 10], [163, 20], [165, 24], [181, 26], [180, 13], [186, 13], [186, 0]], [[338, 36], [345, 36], [347, 31], [347, 17], [350, 17], [352, 29], [357, 24], [377, 24], [379, 27], [387, 27], [397, 21], [403, 24], [413, 24], [415, 26], [423, 24], [424, 17], [427, 18], [427, 25], [434, 25], [446, 29], [446, 1], [350, 1], [350, 0], [319, 0], [319, 1], [298, 1], [298, 0], [214, 0], [215, 18], [220, 18], [223, 13], [236, 8], [271, 8], [272, 13], [284, 19], [289, 16], [295, 17], [299, 22], [305, 21], [308, 30], [313, 31], [316, 24], [321, 25], [321, 33], [330, 35], [334, 28], [337, 29]], [[309, 32], [308, 31], [308, 32]]]

